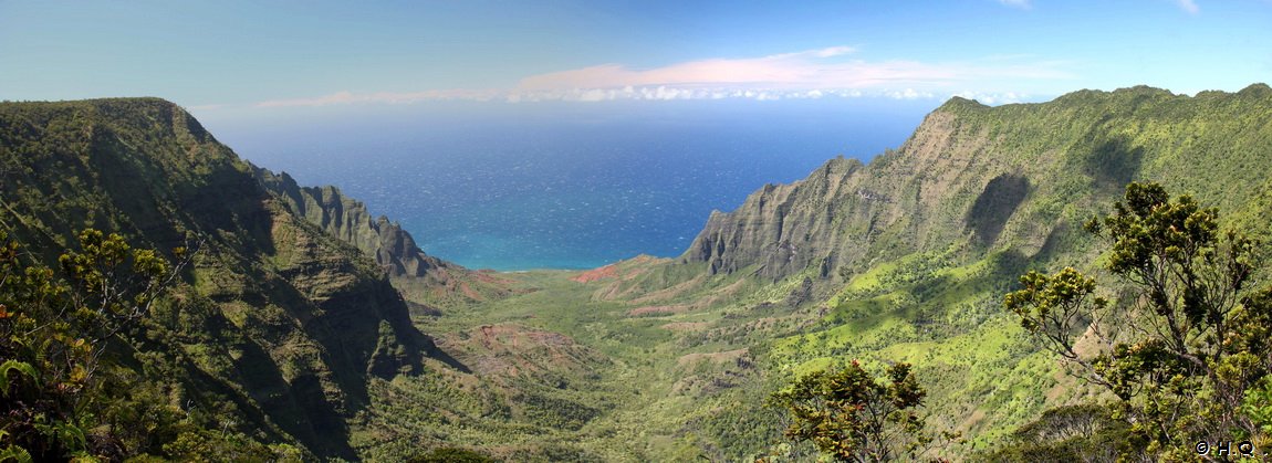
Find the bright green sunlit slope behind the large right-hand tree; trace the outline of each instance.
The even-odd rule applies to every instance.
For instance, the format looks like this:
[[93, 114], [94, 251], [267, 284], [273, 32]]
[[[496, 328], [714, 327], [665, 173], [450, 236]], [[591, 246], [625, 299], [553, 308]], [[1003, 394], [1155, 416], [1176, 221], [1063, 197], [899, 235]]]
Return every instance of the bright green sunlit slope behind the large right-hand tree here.
[[[1079, 92], [1043, 104], [951, 102], [943, 109], [978, 156], [1027, 174], [1029, 196], [983, 252], [968, 252], [976, 249], [969, 240], [936, 242], [852, 275], [828, 300], [833, 310], [822, 324], [775, 343], [775, 368], [799, 373], [854, 357], [915, 363], [931, 392], [929, 411], [985, 448], [1047, 407], [1095, 393], [1038, 354], [1001, 300], [1028, 268], [1100, 273], [1098, 247], [1075, 230], [1107, 211], [1122, 184], [1159, 181], [1221, 207], [1229, 226], [1269, 229], [1266, 85], [1194, 98], [1149, 88]], [[1032, 230], [1038, 224], [1052, 225]]]

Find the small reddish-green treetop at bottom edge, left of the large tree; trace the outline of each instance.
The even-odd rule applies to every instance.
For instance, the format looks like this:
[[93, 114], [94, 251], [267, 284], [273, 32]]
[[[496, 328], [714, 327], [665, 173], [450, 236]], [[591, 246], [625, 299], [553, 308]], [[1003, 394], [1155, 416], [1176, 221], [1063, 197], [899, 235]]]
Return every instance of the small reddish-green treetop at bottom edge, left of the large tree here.
[[932, 443], [916, 413], [926, 396], [909, 364], [894, 364], [876, 380], [854, 360], [799, 378], [770, 403], [790, 413], [787, 438], [812, 441], [841, 462], [885, 462], [916, 458]]

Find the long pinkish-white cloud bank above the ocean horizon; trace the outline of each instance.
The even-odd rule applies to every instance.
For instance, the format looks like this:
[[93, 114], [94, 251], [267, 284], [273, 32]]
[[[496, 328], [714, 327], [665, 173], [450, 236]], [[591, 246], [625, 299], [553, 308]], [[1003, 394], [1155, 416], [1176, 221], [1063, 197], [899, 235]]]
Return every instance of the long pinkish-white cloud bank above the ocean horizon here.
[[791, 98], [894, 99], [960, 95], [988, 104], [1014, 103], [1027, 94], [968, 90], [986, 80], [1071, 80], [1062, 61], [1027, 61], [1027, 56], [991, 57], [971, 62], [866, 61], [854, 59], [855, 47], [834, 46], [743, 59], [706, 59], [650, 69], [604, 64], [530, 75], [506, 89], [446, 89], [424, 92], [354, 93], [342, 90], [314, 98], [272, 99], [258, 107], [315, 107], [354, 103], [417, 103], [429, 100], [603, 102]]

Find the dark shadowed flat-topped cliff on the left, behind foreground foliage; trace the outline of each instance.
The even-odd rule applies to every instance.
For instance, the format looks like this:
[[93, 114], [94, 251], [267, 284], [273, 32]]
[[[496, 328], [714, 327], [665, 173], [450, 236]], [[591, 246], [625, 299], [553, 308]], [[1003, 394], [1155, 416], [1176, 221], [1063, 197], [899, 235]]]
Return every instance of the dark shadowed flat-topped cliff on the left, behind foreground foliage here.
[[418, 373], [435, 351], [380, 266], [294, 214], [172, 103], [4, 103], [0, 160], [0, 226], [46, 258], [85, 226], [160, 251], [202, 243], [134, 340], [183, 371], [154, 378], [174, 384], [177, 403], [351, 458], [345, 418], [368, 402], [369, 375]]

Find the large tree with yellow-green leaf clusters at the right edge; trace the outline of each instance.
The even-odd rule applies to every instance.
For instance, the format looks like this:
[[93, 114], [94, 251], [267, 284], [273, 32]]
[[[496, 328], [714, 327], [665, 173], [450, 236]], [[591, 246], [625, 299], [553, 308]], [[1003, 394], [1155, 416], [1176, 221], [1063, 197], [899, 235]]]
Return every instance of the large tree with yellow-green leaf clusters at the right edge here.
[[[1005, 299], [1021, 326], [1082, 377], [1121, 399], [1122, 418], [1150, 454], [1198, 440], [1263, 439], [1258, 408], [1272, 368], [1272, 289], [1250, 291], [1258, 243], [1220, 238], [1219, 211], [1155, 183], [1131, 183], [1126, 202], [1093, 218], [1110, 243], [1107, 268], [1128, 284], [1119, 300], [1065, 268], [1029, 272]], [[1186, 450], [1188, 449], [1188, 450]]]

